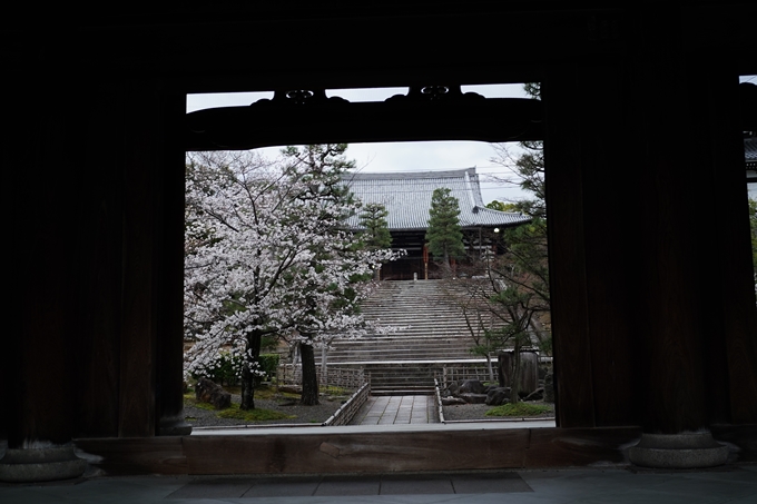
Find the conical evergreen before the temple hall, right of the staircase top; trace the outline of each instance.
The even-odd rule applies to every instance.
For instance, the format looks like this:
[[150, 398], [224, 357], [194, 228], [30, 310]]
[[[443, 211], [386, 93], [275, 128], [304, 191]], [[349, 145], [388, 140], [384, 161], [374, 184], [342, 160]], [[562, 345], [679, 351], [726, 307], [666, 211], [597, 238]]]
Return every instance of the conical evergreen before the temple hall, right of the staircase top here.
[[429, 228], [425, 239], [429, 250], [438, 260], [441, 258], [444, 268], [450, 270], [450, 258], [465, 254], [463, 233], [460, 226], [460, 206], [458, 198], [448, 188], [434, 189], [429, 209]]

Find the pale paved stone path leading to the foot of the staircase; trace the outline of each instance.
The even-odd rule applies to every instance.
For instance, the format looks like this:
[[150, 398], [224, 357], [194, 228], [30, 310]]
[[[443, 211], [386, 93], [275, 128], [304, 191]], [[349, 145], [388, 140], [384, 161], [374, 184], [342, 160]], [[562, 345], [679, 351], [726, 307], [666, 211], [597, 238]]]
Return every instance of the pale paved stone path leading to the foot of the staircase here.
[[350, 425], [434, 424], [439, 422], [432, 395], [371, 396]]

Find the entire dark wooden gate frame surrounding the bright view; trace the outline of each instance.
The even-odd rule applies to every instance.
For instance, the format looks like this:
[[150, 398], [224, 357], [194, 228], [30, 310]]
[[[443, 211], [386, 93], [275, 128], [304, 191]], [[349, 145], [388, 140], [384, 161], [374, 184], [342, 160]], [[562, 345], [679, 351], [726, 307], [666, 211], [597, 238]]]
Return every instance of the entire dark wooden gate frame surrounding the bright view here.
[[[755, 7], [556, 6], [187, 7], [87, 11], [65, 27], [35, 13], [3, 28], [13, 76], [3, 165], [11, 236], [27, 244], [11, 271], [18, 337], [0, 357], [9, 446], [73, 437], [111, 468], [187, 471], [199, 438], [157, 436], [184, 428], [186, 93], [541, 81], [560, 427], [520, 433], [521, 455], [539, 437], [551, 439], [542, 464], [617, 459], [639, 429], [709, 428], [754, 458], [757, 309], [737, 78], [757, 73]], [[277, 45], [282, 33], [302, 52]], [[345, 45], [361, 58], [344, 59]], [[66, 78], [41, 100], [53, 76]], [[692, 204], [702, 200], [715, 210]], [[262, 443], [281, 453], [283, 441]], [[313, 461], [350, 464], [311, 447]]]

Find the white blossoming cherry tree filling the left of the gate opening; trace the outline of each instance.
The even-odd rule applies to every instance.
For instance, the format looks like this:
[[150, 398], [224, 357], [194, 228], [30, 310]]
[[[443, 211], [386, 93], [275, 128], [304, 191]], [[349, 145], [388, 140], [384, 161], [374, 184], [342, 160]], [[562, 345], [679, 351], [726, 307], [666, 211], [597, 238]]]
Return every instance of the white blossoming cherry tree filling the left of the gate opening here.
[[[340, 185], [351, 167], [345, 149], [287, 148], [277, 164], [249, 152], [190, 156], [185, 326], [195, 345], [185, 355], [185, 372], [207, 367], [230, 346], [243, 358], [243, 409], [255, 407], [266, 335], [301, 345], [303, 403], [316, 404], [313, 347], [365, 330], [355, 309], [365, 291], [361, 280], [396, 256], [356, 248], [344, 227], [360, 208]], [[306, 383], [311, 364], [313, 379]]]

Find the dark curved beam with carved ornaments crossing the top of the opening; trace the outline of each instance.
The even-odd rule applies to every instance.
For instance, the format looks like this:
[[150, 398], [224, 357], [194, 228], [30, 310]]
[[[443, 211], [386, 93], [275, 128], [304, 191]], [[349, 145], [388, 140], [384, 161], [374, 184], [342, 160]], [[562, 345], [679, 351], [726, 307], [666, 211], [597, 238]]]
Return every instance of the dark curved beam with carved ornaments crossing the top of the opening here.
[[[384, 101], [351, 102], [324, 88], [279, 88], [245, 107], [189, 112], [185, 150], [281, 145], [543, 139], [543, 108], [528, 98], [484, 98], [460, 85], [410, 87]], [[454, 120], [452, 120], [454, 119]]]

